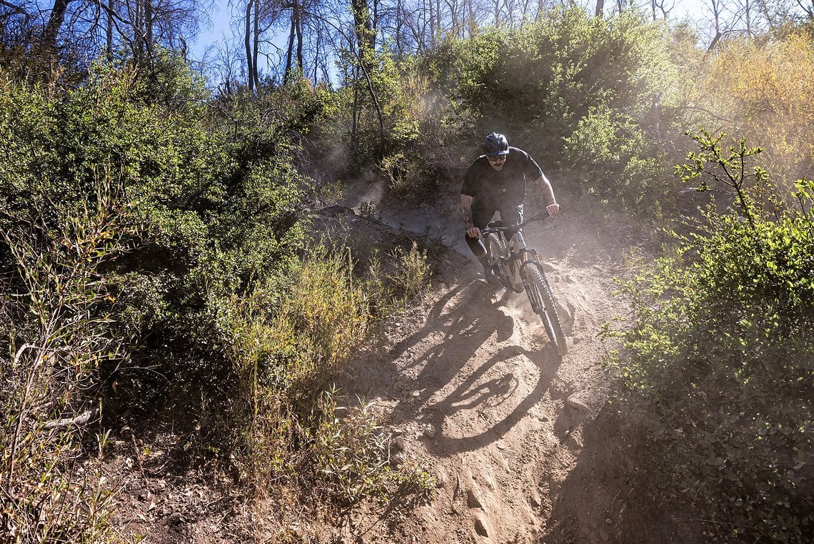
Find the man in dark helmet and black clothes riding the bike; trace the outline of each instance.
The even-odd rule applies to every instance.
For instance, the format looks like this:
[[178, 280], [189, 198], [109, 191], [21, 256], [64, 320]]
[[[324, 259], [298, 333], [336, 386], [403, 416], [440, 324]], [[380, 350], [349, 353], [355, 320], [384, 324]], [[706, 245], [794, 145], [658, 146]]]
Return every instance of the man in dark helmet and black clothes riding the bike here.
[[527, 180], [540, 186], [549, 215], [559, 213], [559, 204], [540, 166], [526, 151], [510, 147], [503, 134], [488, 134], [484, 138], [484, 152], [466, 170], [461, 187], [461, 216], [466, 225], [466, 244], [484, 265], [486, 280], [494, 283], [497, 276], [488, 264], [480, 230], [495, 212], [501, 213], [505, 224], [523, 221]]

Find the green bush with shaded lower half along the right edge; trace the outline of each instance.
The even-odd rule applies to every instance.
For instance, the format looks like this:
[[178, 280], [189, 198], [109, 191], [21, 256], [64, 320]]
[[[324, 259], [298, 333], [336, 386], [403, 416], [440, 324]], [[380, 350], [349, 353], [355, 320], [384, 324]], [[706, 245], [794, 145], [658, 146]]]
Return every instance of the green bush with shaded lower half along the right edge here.
[[698, 511], [707, 534], [811, 542], [814, 184], [797, 183], [798, 209], [773, 212], [763, 170], [747, 169], [758, 150], [698, 141], [685, 172], [711, 186], [727, 172], [737, 212], [709, 210], [671, 257], [622, 283], [633, 318], [611, 365], [620, 408], [649, 433], [660, 492]]

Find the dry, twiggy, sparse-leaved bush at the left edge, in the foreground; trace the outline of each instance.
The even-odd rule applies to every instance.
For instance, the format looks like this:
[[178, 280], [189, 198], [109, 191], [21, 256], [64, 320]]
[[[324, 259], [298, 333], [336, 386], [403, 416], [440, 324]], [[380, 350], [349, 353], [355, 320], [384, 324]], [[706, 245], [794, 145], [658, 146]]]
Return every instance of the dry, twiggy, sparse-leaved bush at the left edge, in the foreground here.
[[112, 318], [130, 279], [106, 270], [128, 250], [133, 207], [109, 173], [94, 190], [70, 214], [55, 203], [59, 221], [2, 235], [15, 264], [2, 296], [17, 300], [2, 322], [3, 542], [122, 542], [98, 465], [77, 455], [103, 384], [128, 358], [138, 328]]

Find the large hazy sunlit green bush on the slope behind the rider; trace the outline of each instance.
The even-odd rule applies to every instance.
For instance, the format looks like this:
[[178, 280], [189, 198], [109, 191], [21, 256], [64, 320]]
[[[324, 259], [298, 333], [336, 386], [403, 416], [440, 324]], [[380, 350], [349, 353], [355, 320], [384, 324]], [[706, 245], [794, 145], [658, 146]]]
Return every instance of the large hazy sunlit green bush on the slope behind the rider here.
[[669, 42], [665, 25], [634, 11], [600, 18], [558, 8], [518, 29], [449, 38], [422, 66], [467, 141], [507, 134], [546, 172], [575, 174], [555, 190], [652, 218], [672, 208], [674, 193], [664, 145], [672, 116], [655, 111], [673, 102]]

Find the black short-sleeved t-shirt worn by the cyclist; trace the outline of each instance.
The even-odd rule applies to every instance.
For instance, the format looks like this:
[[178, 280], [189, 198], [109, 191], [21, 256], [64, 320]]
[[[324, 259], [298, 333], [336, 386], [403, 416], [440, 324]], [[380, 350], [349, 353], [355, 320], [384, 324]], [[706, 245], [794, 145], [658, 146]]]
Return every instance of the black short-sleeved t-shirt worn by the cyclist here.
[[540, 166], [526, 151], [509, 147], [509, 155], [500, 172], [489, 165], [485, 155], [479, 156], [466, 170], [461, 194], [494, 205], [522, 204], [526, 196], [526, 180], [533, 182], [542, 175]]

